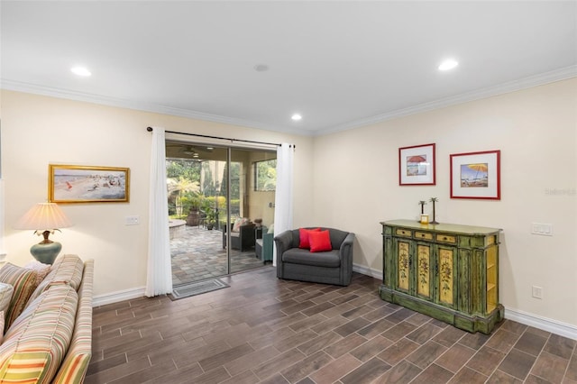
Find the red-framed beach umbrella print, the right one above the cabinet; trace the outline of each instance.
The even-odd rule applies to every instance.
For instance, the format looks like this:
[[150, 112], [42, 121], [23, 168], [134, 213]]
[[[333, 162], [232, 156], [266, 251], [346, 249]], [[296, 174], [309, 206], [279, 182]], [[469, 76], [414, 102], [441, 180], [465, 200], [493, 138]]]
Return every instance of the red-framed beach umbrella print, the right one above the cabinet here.
[[501, 151], [451, 155], [451, 198], [500, 200]]

